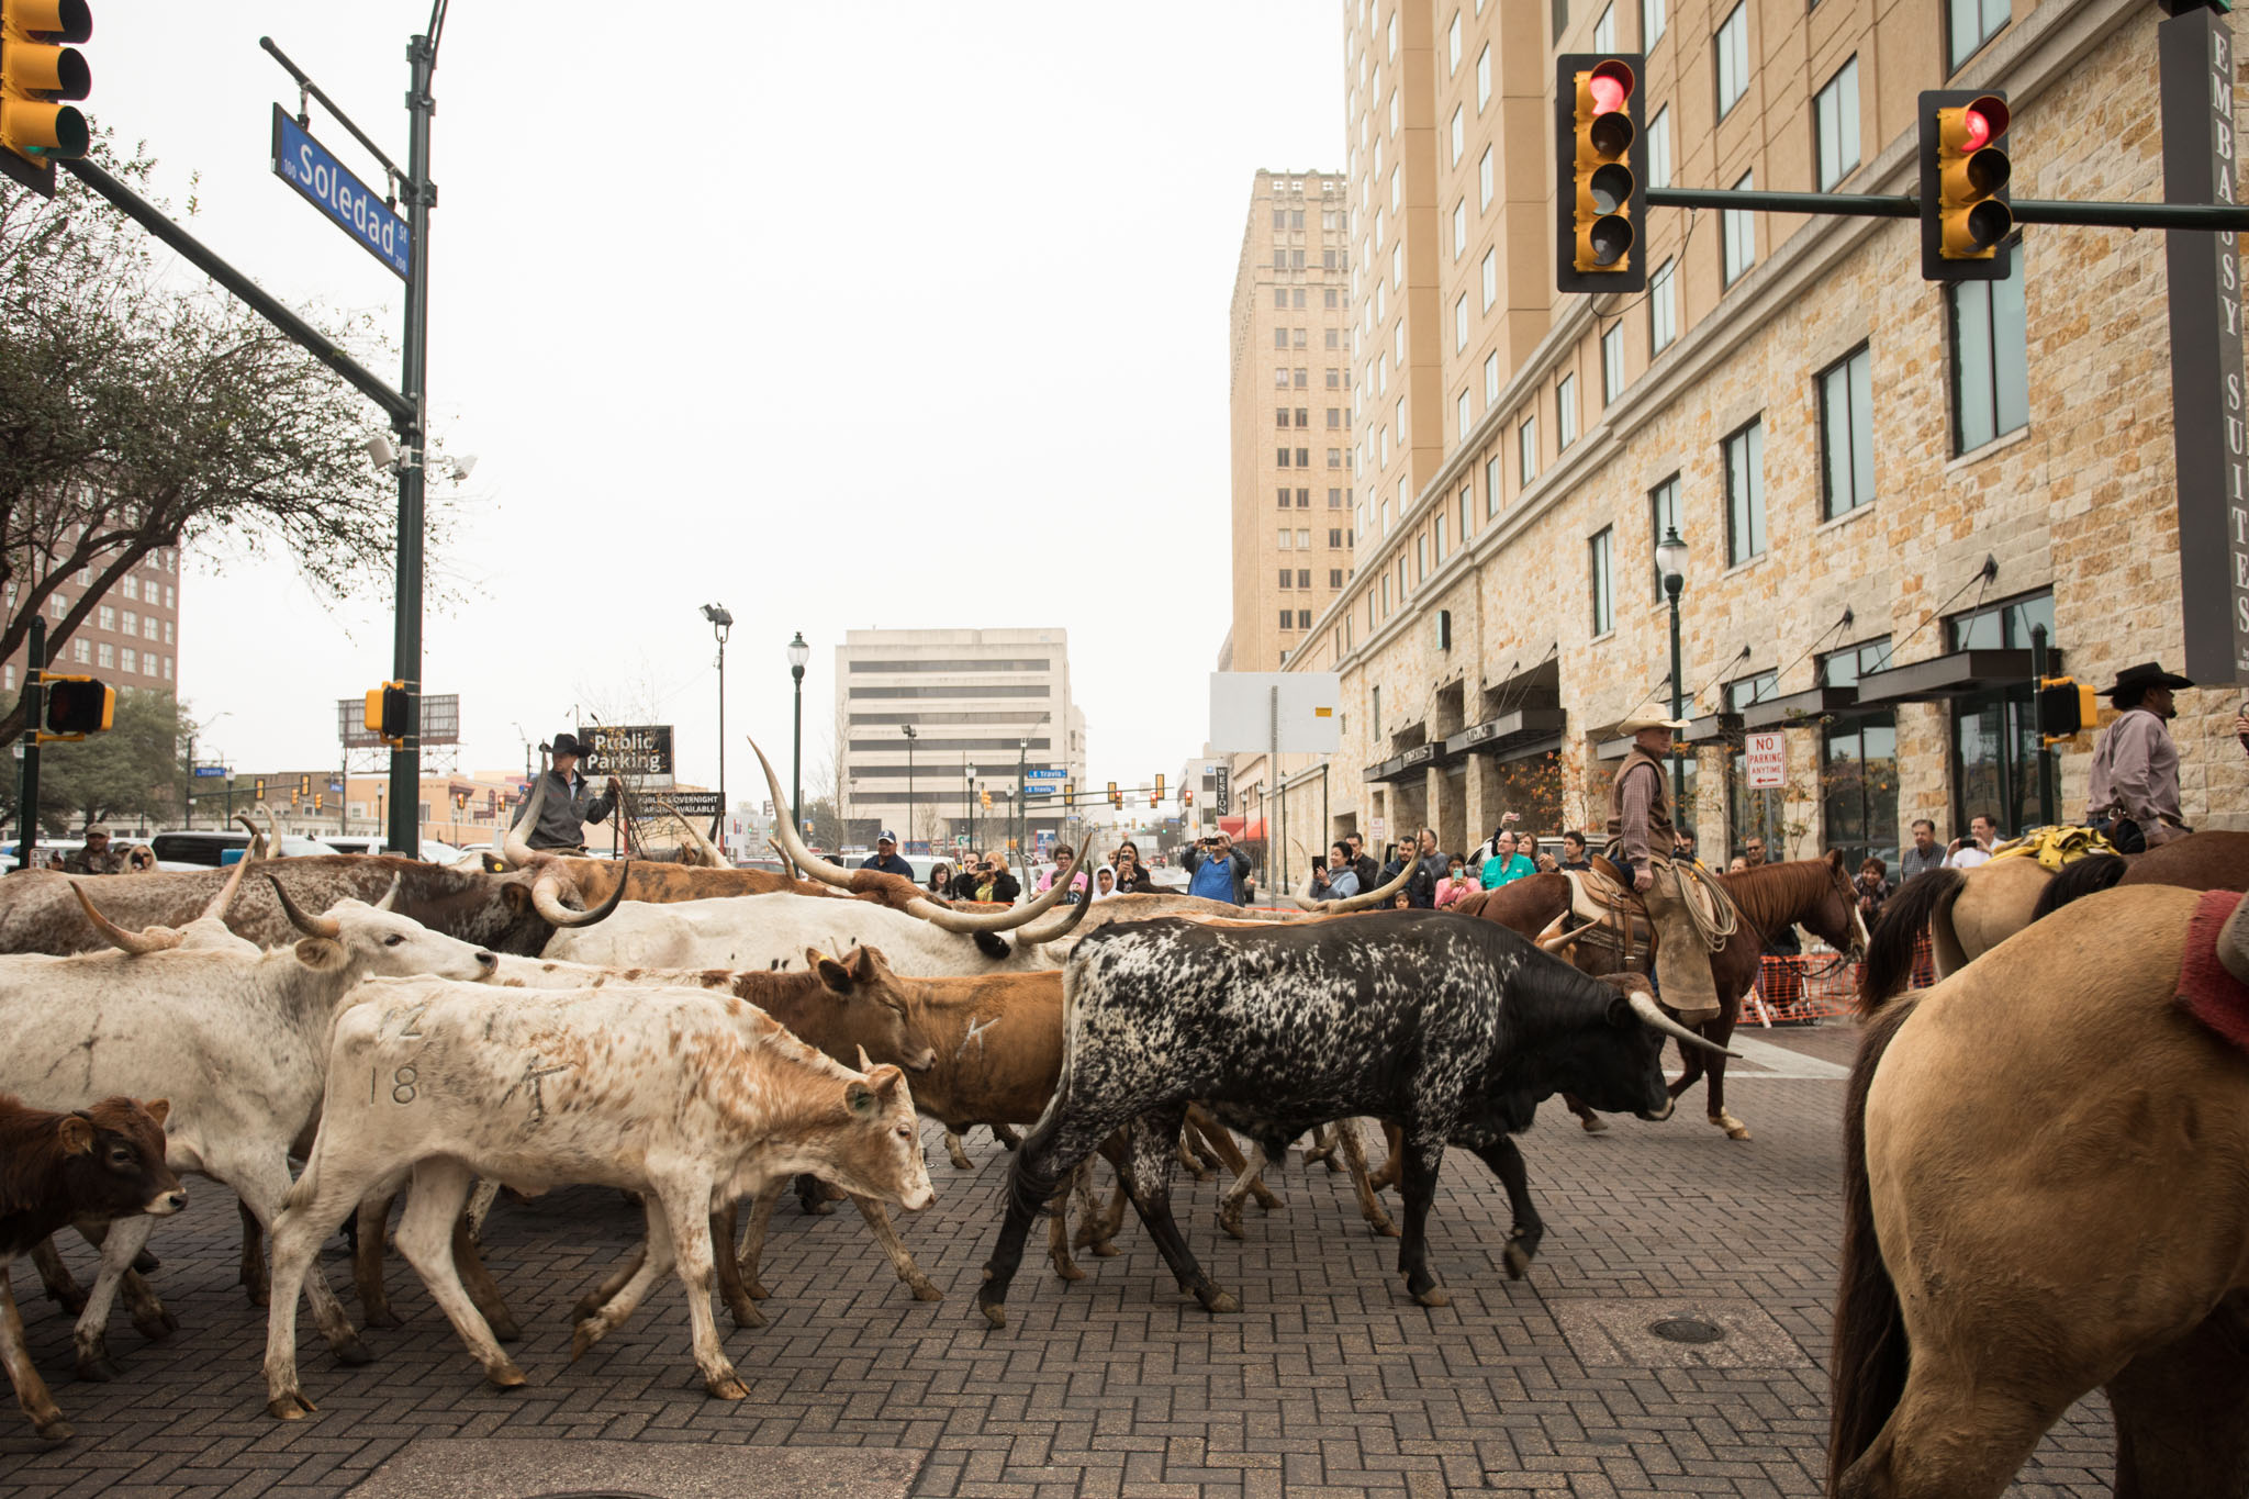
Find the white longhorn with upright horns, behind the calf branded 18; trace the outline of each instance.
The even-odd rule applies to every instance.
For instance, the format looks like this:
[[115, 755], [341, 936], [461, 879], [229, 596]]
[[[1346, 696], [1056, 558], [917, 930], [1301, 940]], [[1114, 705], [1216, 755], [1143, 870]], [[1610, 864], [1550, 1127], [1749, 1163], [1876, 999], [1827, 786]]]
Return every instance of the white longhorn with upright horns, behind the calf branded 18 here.
[[[270, 953], [180, 946], [0, 957], [0, 1090], [49, 1108], [166, 1092], [171, 1164], [225, 1182], [272, 1225], [290, 1184], [290, 1144], [319, 1108], [328, 1027], [351, 989], [369, 973], [479, 978], [493, 966], [490, 953], [362, 901], [301, 919], [310, 935]], [[103, 1330], [148, 1229], [148, 1218], [126, 1218], [101, 1241], [101, 1272], [74, 1335], [83, 1378], [117, 1375]], [[340, 1357], [367, 1362], [319, 1277], [313, 1312]], [[135, 1326], [151, 1337], [169, 1321], [153, 1297], [135, 1306]]]

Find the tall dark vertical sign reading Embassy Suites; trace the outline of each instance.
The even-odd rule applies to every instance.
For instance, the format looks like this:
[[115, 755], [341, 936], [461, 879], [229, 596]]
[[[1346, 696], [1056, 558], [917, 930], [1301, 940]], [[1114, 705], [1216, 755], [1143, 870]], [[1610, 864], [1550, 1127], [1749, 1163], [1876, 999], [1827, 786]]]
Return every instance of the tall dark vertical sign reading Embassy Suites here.
[[[2233, 31], [2195, 9], [2157, 27], [2164, 202], [2238, 202]], [[2170, 400], [2179, 465], [2186, 674], [2249, 681], [2249, 398], [2233, 234], [2168, 229]]]

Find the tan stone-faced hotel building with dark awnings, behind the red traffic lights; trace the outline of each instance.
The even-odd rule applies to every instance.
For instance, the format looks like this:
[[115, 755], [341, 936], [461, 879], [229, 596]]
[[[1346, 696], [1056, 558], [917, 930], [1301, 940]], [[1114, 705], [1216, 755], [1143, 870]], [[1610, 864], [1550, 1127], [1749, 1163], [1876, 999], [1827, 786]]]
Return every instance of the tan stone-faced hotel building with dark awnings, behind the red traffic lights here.
[[[1457, 850], [1502, 809], [1599, 827], [1608, 726], [1671, 694], [1676, 524], [1705, 858], [1756, 832], [1896, 863], [1918, 816], [2035, 823], [2033, 627], [2096, 685], [2179, 665], [2164, 236], [2033, 225], [2008, 281], [1945, 288], [1912, 220], [1653, 209], [1644, 294], [1563, 297], [1554, 56], [1646, 54], [1655, 184], [1909, 193], [1916, 94], [1997, 88], [2017, 198], [2161, 200], [2159, 20], [1345, 4], [1356, 575], [1289, 670], [1340, 672], [1347, 710], [1329, 764], [1284, 762], [1289, 811], [1325, 793], [1336, 834]], [[2200, 827], [2249, 825], [2240, 697], [2179, 694]], [[1783, 735], [1779, 789], [1747, 784], [1756, 730]], [[2089, 751], [2056, 755], [2065, 820]]]

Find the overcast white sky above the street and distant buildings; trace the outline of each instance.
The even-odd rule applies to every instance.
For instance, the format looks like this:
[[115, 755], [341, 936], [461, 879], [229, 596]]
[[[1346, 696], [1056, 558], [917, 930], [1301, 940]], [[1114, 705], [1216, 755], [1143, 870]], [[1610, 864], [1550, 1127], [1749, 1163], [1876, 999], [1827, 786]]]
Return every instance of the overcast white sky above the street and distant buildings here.
[[[270, 171], [297, 90], [256, 43], [405, 162], [427, 16], [99, 0], [88, 112], [151, 142], [175, 207], [200, 173], [191, 229], [238, 267], [396, 330], [403, 283]], [[425, 681], [461, 694], [463, 769], [600, 703], [677, 724], [708, 780], [715, 600], [738, 793], [744, 730], [787, 773], [794, 629], [807, 762], [843, 629], [1059, 623], [1093, 778], [1176, 773], [1232, 607], [1250, 175], [1340, 169], [1340, 70], [1318, 0], [452, 4], [430, 391], [479, 467], [443, 560], [470, 598], [427, 618]], [[378, 182], [317, 106], [313, 133]], [[331, 764], [335, 699], [389, 672], [389, 580], [335, 605], [205, 573], [180, 685], [207, 744]]]

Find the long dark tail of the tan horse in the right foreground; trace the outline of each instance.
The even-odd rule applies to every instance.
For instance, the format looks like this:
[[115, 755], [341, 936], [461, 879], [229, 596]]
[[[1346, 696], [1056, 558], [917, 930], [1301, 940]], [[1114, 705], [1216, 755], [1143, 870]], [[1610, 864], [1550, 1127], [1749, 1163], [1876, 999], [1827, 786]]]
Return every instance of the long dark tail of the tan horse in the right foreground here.
[[1898, 1288], [1882, 1263], [1873, 1232], [1873, 1191], [1867, 1184], [1867, 1092], [1898, 1027], [1918, 1000], [1891, 1005], [1867, 1025], [1851, 1068], [1842, 1110], [1842, 1265], [1835, 1292], [1835, 1335], [1828, 1344], [1828, 1495], [1882, 1432], [1905, 1393], [1907, 1342]]

